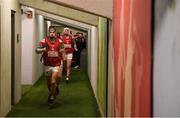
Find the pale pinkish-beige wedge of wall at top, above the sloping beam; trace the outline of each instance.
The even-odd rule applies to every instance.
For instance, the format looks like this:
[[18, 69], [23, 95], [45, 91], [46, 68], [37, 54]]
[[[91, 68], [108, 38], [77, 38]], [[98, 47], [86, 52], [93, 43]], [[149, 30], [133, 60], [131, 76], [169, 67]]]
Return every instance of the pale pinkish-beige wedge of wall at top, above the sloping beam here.
[[73, 8], [112, 18], [113, 0], [49, 0]]

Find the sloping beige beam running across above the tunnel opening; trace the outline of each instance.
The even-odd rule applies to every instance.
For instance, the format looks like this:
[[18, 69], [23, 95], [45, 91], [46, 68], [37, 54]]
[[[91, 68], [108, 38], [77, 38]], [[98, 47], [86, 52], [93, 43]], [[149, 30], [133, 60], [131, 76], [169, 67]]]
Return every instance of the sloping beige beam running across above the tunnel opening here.
[[71, 7], [55, 4], [47, 0], [19, 0], [20, 5], [34, 8], [35, 10], [44, 11], [49, 14], [61, 16], [67, 19], [75, 20], [88, 25], [97, 26], [98, 16], [77, 10]]

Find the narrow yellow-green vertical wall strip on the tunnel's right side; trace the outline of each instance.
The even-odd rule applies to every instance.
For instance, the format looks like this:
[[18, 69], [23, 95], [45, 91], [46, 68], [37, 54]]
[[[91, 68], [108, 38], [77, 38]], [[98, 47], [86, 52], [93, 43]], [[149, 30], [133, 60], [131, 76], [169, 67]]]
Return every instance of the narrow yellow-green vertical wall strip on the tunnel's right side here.
[[107, 19], [99, 17], [98, 24], [98, 79], [97, 96], [100, 110], [106, 114], [106, 82], [107, 82]]

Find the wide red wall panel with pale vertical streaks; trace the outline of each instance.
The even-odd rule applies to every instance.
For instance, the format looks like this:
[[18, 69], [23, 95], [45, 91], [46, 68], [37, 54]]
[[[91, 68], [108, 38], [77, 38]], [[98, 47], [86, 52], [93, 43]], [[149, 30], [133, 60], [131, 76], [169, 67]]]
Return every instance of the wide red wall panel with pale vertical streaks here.
[[115, 115], [150, 116], [150, 0], [114, 0]]

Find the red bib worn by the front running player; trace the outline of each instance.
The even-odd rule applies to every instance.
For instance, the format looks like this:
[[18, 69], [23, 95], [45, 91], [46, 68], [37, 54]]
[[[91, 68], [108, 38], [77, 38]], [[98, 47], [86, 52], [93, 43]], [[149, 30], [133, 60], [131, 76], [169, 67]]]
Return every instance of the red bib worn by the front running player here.
[[41, 46], [46, 47], [46, 51], [43, 53], [44, 65], [46, 66], [60, 66], [61, 65], [61, 53], [60, 42], [58, 37], [55, 41], [50, 41], [49, 37], [46, 37], [40, 42]]

